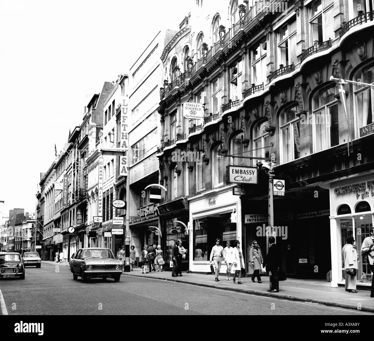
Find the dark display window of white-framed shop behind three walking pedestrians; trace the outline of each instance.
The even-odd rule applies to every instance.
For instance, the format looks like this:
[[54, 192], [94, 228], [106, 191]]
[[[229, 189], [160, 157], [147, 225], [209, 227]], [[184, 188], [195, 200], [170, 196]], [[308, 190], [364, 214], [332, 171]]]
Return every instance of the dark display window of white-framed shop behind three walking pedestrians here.
[[220, 238], [223, 247], [226, 246], [227, 241], [230, 241], [233, 246], [237, 239], [236, 224], [231, 222], [231, 213], [194, 219], [193, 230], [195, 261], [209, 261], [216, 238]]

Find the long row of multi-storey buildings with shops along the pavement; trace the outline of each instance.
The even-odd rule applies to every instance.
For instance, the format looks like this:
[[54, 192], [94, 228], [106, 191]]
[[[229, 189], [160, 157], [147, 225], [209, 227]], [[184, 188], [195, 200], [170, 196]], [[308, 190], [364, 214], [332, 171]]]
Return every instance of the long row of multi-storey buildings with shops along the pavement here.
[[[178, 30], [157, 33], [127, 75], [104, 83], [44, 173], [45, 259], [82, 246], [116, 253], [124, 237], [108, 232], [125, 210], [112, 202], [126, 199], [129, 181], [137, 256], [156, 243], [168, 262], [181, 240], [184, 270], [207, 272], [215, 239], [237, 239], [250, 272], [253, 240], [263, 254], [268, 246], [268, 178], [257, 161], [269, 161], [285, 182], [273, 200], [283, 270], [310, 279], [331, 271], [332, 286], [344, 283], [345, 239], [361, 248], [374, 219], [374, 89], [363, 84], [374, 82], [373, 25], [373, 0], [197, 0]], [[202, 118], [186, 118], [186, 103]], [[126, 157], [100, 159], [116, 147]], [[230, 180], [232, 169], [257, 181]], [[360, 285], [370, 285], [368, 264], [359, 267]]]

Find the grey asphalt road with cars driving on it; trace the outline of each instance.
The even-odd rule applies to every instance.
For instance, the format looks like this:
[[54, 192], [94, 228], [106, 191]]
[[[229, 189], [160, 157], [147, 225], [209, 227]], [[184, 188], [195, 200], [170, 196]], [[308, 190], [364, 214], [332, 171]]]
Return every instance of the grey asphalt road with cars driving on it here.
[[122, 275], [73, 280], [68, 267], [26, 268], [24, 280], [0, 280], [0, 313], [8, 315], [255, 314], [373, 315], [361, 311], [286, 301], [196, 285]]

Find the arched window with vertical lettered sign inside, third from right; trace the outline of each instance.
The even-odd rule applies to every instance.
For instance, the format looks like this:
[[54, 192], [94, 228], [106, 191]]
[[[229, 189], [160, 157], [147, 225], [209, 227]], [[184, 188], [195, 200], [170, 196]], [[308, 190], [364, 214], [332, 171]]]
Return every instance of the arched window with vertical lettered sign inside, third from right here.
[[298, 111], [299, 106], [295, 105], [283, 110], [279, 115], [281, 163], [300, 157], [300, 120], [296, 116]]

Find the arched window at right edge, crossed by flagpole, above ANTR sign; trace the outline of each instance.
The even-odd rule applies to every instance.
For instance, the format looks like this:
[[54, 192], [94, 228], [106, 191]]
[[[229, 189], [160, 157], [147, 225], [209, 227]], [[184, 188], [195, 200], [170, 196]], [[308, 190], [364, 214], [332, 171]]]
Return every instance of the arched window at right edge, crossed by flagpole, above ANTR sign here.
[[[374, 64], [369, 67], [364, 68], [357, 76], [357, 82], [363, 82], [372, 84], [374, 83]], [[374, 113], [374, 88], [353, 86], [355, 92], [355, 122], [358, 128], [358, 133], [356, 137], [361, 137], [367, 135], [365, 128], [368, 125], [374, 123], [373, 113]]]

